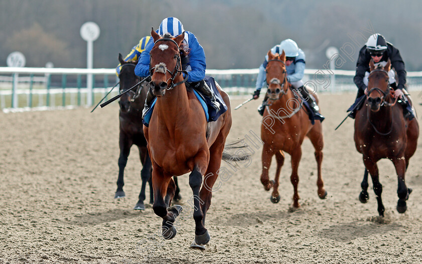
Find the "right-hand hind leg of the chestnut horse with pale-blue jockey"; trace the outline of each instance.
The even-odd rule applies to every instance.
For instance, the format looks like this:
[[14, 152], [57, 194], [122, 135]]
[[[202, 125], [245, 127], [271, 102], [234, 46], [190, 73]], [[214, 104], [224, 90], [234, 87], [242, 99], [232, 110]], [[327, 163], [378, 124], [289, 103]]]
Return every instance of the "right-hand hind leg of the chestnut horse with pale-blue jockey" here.
[[322, 163], [323, 163], [323, 148], [324, 148], [324, 139], [322, 133], [322, 124], [321, 121], [316, 121], [312, 129], [308, 133], [308, 138], [315, 149], [315, 160], [318, 169], [318, 179], [316, 180], [316, 186], [318, 186], [318, 197], [324, 199], [327, 197], [327, 191], [324, 188], [324, 181], [322, 176]]

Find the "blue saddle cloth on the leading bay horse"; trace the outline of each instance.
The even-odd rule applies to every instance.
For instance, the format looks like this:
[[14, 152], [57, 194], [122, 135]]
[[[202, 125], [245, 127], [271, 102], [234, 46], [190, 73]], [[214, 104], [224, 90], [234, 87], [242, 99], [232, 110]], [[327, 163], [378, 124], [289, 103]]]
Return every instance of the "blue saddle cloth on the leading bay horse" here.
[[[205, 113], [206, 120], [208, 122], [216, 121], [220, 115], [222, 115], [224, 112], [227, 111], [227, 105], [224, 102], [223, 98], [221, 97], [221, 94], [219, 90], [217, 89], [216, 81], [213, 77], [205, 75], [205, 78], [203, 80], [206, 82], [209, 88], [213, 89], [214, 95], [216, 96], [216, 100], [220, 103], [220, 111], [216, 112], [216, 109], [213, 107], [213, 104], [211, 102], [211, 99], [203, 96], [202, 94], [198, 93], [193, 89], [193, 93], [196, 95], [196, 98], [199, 100], [200, 104], [202, 105], [202, 109]], [[144, 119], [142, 120], [142, 123], [146, 126], [149, 125], [149, 122], [151, 120], [152, 111], [154, 110], [155, 103], [157, 101], [157, 98], [154, 99], [154, 101], [151, 104], [151, 108], [148, 110], [148, 112], [145, 114]]]

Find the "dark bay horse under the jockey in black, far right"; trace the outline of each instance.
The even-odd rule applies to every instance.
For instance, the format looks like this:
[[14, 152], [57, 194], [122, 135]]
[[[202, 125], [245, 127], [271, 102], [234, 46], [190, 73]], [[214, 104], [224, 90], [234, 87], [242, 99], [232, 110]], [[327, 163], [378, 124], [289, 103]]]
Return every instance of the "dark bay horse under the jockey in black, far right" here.
[[417, 118], [407, 120], [403, 116], [403, 108], [396, 104], [388, 84], [390, 61], [383, 66], [374, 66], [370, 61], [368, 77], [368, 92], [366, 103], [356, 113], [355, 146], [363, 156], [365, 165], [364, 179], [361, 183], [362, 191], [359, 200], [366, 203], [369, 199], [368, 172], [372, 178], [374, 193], [378, 201], [378, 213], [384, 216], [384, 205], [381, 200], [382, 185], [379, 182], [377, 162], [389, 159], [394, 164], [397, 187], [397, 211], [404, 213], [407, 209], [406, 200], [411, 189], [406, 187], [404, 175], [409, 165], [409, 159], [416, 151], [419, 125]]

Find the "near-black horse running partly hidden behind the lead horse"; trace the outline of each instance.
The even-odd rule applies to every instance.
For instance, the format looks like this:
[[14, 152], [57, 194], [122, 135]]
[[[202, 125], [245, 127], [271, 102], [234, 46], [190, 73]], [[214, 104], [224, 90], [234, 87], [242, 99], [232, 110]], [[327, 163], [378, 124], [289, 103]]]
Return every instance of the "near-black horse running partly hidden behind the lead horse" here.
[[[119, 53], [119, 62], [122, 69], [119, 74], [120, 92], [133, 87], [139, 82], [139, 77], [135, 75], [134, 69], [136, 62], [125, 62], [122, 54]], [[145, 98], [147, 97], [147, 89], [142, 84], [136, 89], [122, 95], [119, 100], [119, 176], [117, 179], [117, 190], [115, 199], [123, 198], [126, 196], [123, 191], [125, 182], [124, 171], [128, 162], [131, 147], [136, 145], [139, 150], [139, 157], [142, 163], [141, 179], [142, 187], [139, 193], [139, 200], [136, 203], [135, 210], [145, 210], [145, 189], [147, 182], [150, 185], [150, 204], [154, 202], [154, 194], [151, 180], [151, 159], [148, 154], [147, 141], [144, 137], [143, 124], [142, 124], [142, 110], [144, 109]], [[176, 198], [180, 199], [177, 188]]]

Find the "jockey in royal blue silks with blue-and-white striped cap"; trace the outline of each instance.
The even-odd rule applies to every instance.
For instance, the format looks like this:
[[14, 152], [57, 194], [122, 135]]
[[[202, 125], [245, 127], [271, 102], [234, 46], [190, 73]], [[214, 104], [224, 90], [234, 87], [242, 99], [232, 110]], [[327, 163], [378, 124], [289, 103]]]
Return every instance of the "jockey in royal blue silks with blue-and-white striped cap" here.
[[[180, 56], [182, 63], [182, 70], [188, 72], [187, 84], [190, 85], [193, 89], [200, 92], [204, 96], [207, 96], [211, 99], [216, 112], [220, 110], [220, 103], [216, 100], [214, 92], [208, 87], [204, 82], [203, 78], [205, 77], [205, 53], [201, 45], [199, 45], [198, 40], [195, 35], [189, 31], [183, 30], [182, 23], [173, 17], [164, 19], [159, 29], [156, 31], [158, 35], [163, 36], [166, 33], [169, 33], [171, 36], [176, 37], [183, 32], [185, 32], [184, 40], [180, 44]], [[154, 40], [151, 38], [147, 43], [145, 51], [142, 52], [139, 62], [135, 67], [135, 74], [140, 77], [146, 77], [150, 74], [150, 52], [154, 46]], [[187, 54], [187, 55], [186, 55]], [[186, 75], [183, 73], [183, 78]], [[155, 96], [150, 90], [148, 90], [148, 95], [145, 100], [145, 107], [143, 110], [143, 117], [145, 113], [150, 109], [151, 103], [154, 100]]]

